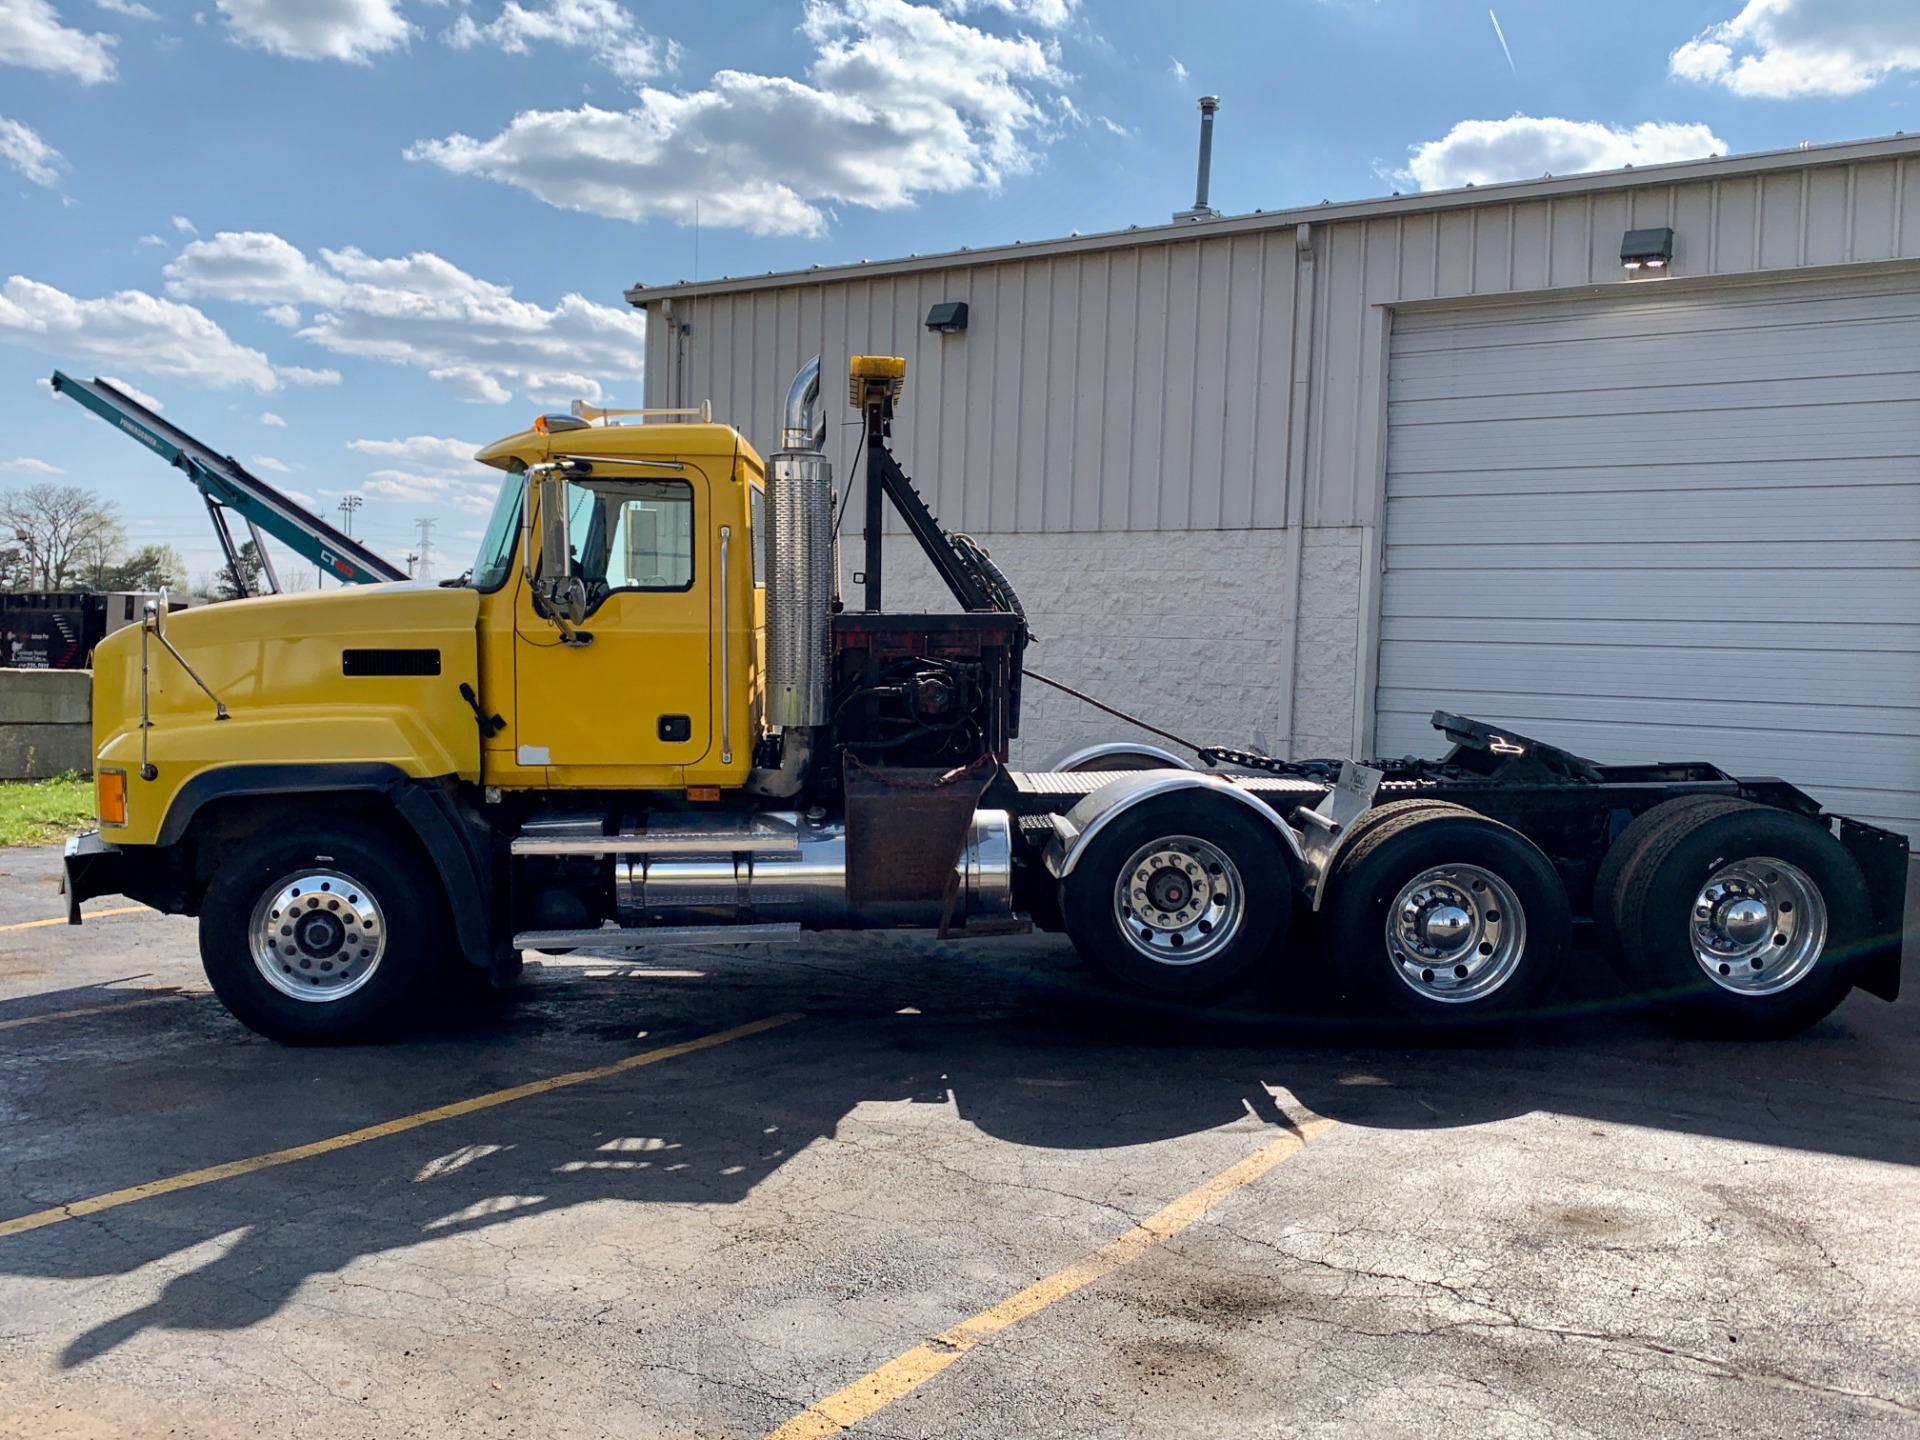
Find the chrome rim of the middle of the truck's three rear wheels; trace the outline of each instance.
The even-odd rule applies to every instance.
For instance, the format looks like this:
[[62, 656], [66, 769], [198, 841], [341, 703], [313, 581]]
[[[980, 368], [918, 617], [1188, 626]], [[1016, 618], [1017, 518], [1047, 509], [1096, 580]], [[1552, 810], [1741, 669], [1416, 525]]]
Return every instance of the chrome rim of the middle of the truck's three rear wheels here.
[[1386, 908], [1386, 954], [1400, 983], [1425, 1000], [1484, 1000], [1521, 968], [1526, 910], [1492, 870], [1423, 870]]

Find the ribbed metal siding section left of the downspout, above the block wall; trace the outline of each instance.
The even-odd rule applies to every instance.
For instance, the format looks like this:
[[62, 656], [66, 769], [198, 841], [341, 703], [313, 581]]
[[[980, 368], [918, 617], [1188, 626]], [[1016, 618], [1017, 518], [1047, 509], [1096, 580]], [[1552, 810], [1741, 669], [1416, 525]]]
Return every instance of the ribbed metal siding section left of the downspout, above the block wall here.
[[[676, 301], [647, 403], [712, 397], [766, 445], [824, 355], [828, 453], [851, 455], [849, 355], [906, 357], [897, 453], [975, 532], [1244, 530], [1286, 513], [1290, 232]], [[962, 300], [964, 334], [925, 328]], [[678, 369], [674, 330], [689, 324]], [[858, 503], [858, 501], [856, 501]]]

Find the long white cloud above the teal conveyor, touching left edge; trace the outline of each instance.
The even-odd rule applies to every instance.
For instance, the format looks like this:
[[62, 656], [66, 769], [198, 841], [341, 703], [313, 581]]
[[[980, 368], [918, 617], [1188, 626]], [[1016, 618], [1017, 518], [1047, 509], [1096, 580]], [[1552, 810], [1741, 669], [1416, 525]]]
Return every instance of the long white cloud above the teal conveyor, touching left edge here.
[[131, 365], [148, 374], [209, 386], [280, 386], [273, 365], [257, 349], [236, 344], [192, 305], [144, 290], [75, 300], [50, 284], [10, 276], [0, 286], [0, 340], [69, 361]]

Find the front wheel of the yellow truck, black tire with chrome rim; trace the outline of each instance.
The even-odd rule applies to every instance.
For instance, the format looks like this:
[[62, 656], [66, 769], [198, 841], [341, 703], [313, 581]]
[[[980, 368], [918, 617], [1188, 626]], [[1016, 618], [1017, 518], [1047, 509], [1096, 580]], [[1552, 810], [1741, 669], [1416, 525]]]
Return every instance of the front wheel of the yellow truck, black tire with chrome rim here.
[[445, 929], [426, 866], [351, 820], [250, 843], [207, 885], [200, 960], [221, 1004], [282, 1044], [372, 1037], [442, 970]]

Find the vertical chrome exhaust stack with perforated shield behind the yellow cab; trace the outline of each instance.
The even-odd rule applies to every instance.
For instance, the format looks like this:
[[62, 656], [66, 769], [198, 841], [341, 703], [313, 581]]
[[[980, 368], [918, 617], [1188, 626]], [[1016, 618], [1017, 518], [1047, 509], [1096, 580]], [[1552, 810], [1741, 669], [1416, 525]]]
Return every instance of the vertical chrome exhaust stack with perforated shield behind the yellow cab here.
[[766, 724], [781, 732], [778, 768], [755, 770], [755, 795], [797, 795], [812, 732], [828, 724], [833, 653], [833, 467], [822, 455], [820, 357], [787, 386], [781, 449], [766, 467]]

